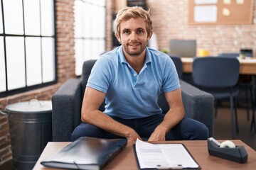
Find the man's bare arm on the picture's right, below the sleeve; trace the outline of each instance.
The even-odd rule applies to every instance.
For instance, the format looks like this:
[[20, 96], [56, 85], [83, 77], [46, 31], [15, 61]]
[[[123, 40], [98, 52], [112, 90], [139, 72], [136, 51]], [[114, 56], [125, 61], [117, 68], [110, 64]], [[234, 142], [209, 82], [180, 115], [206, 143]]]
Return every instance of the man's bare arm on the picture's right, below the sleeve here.
[[164, 120], [156, 127], [149, 137], [149, 141], [165, 140], [165, 135], [171, 128], [178, 124], [185, 115], [181, 97], [181, 88], [164, 94], [169, 111], [164, 116]]

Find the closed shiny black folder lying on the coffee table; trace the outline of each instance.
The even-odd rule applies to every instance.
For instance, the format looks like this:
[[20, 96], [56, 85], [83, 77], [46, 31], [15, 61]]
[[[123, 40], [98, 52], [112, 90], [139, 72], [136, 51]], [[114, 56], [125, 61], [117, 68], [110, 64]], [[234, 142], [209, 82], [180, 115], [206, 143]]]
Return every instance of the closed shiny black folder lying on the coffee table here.
[[102, 169], [127, 145], [127, 139], [80, 137], [41, 164], [62, 169]]

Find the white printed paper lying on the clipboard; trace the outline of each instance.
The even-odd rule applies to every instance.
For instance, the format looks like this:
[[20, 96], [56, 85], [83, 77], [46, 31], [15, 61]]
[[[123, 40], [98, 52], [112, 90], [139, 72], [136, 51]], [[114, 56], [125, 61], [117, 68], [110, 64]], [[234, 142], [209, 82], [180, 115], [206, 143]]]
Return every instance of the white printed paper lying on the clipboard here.
[[182, 144], [150, 144], [137, 139], [134, 148], [140, 169], [200, 169]]

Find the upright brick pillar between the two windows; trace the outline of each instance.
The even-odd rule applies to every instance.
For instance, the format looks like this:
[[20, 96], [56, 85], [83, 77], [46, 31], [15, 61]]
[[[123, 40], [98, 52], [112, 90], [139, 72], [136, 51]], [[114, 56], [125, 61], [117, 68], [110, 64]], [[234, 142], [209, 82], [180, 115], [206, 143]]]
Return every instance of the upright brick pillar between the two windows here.
[[74, 0], [56, 0], [56, 55], [58, 82], [75, 77]]

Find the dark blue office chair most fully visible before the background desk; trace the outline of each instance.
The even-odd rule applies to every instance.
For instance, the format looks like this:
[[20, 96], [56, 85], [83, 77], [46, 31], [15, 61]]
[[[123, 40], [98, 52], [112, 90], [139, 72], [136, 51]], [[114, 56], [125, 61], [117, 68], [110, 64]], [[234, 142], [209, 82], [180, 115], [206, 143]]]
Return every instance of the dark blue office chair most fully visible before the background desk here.
[[232, 137], [238, 132], [238, 118], [234, 100], [238, 95], [236, 87], [239, 78], [239, 61], [233, 57], [195, 57], [192, 79], [199, 89], [212, 94], [215, 100], [230, 98]]

